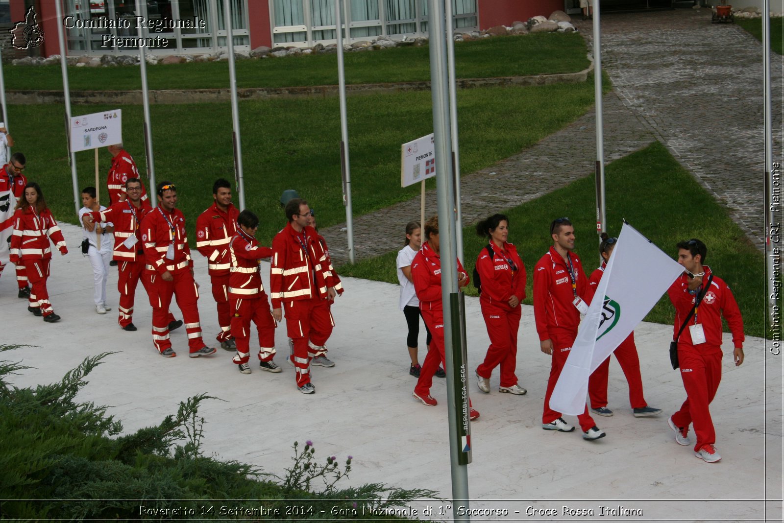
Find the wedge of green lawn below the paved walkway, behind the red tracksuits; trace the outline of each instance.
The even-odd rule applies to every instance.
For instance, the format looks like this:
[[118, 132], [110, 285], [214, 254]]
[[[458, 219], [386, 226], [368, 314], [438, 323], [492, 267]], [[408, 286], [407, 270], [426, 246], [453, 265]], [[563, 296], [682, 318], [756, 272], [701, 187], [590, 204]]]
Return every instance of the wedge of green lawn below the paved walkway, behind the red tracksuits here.
[[[675, 244], [699, 237], [708, 246], [707, 265], [731, 287], [745, 323], [746, 334], [764, 336], [765, 273], [764, 254], [757, 250], [724, 208], [681, 167], [664, 146], [655, 142], [609, 164], [607, 175], [608, 232], [620, 233], [622, 219], [675, 258]], [[598, 266], [597, 236], [594, 231], [595, 189], [593, 175], [573, 182], [546, 196], [503, 211], [510, 218], [510, 241], [517, 245], [528, 283], [524, 303], [532, 305], [532, 269], [552, 244], [548, 237], [550, 222], [568, 216], [575, 224], [577, 252], [582, 254], [586, 269]], [[502, 211], [502, 210], [498, 210]], [[465, 266], [473, 271], [476, 256], [485, 240], [473, 227], [463, 229]], [[343, 265], [341, 275], [397, 283], [397, 252], [378, 258]], [[586, 271], [589, 273], [589, 271]], [[476, 296], [473, 285], [467, 294]], [[645, 318], [655, 323], [671, 323], [673, 307], [665, 296]], [[726, 325], [725, 325], [726, 327]]]

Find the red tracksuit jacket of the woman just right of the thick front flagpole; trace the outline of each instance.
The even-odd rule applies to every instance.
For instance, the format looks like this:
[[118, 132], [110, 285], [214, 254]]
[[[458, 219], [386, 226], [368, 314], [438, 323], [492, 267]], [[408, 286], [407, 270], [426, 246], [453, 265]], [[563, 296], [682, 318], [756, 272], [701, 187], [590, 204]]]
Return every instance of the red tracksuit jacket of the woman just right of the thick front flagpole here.
[[[492, 260], [487, 247], [483, 248], [477, 257], [476, 267], [482, 283], [479, 300], [511, 311], [513, 309], [509, 306], [509, 298], [512, 294], [520, 301], [525, 298], [525, 266], [512, 243], [504, 242], [503, 251], [495, 243], [488, 245], [493, 251]], [[509, 262], [517, 266], [516, 271], [512, 270]]]

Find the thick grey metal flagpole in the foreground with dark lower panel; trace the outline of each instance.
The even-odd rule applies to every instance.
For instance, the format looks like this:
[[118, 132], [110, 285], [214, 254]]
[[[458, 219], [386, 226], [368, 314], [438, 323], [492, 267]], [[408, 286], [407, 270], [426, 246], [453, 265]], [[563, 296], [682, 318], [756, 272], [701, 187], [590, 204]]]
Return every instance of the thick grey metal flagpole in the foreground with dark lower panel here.
[[[444, 306], [444, 346], [447, 366], [449, 457], [453, 506], [468, 508], [468, 463], [471, 461], [468, 387], [466, 381], [465, 315], [463, 293], [457, 283], [455, 193], [452, 181], [452, 140], [446, 72], [444, 3], [428, 0], [430, 33], [430, 85], [433, 96], [438, 229], [441, 260], [441, 300]], [[458, 202], [459, 205], [459, 202]], [[424, 228], [424, 224], [422, 224]], [[467, 521], [466, 511], [452, 512], [454, 521]]]

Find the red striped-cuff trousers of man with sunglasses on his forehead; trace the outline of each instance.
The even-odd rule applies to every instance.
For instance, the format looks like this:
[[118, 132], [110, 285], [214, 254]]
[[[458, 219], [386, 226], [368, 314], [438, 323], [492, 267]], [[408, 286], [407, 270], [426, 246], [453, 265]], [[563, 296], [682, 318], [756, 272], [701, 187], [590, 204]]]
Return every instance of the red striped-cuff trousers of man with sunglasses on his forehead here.
[[152, 305], [152, 341], [158, 351], [163, 352], [172, 346], [169, 340], [169, 305], [172, 295], [177, 301], [177, 306], [183, 312], [185, 331], [188, 334], [188, 348], [196, 352], [204, 347], [201, 340], [201, 323], [198, 318], [198, 290], [190, 269], [170, 272], [173, 281], [167, 282], [158, 272], [145, 270], [143, 278], [147, 279], [144, 287]]

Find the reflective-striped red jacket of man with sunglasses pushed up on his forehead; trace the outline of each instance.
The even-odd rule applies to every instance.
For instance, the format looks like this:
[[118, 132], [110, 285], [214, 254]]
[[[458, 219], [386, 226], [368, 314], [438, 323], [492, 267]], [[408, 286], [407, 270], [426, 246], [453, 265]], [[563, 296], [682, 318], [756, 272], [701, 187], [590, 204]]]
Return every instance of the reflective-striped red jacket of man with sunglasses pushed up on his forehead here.
[[[185, 216], [180, 209], [174, 209], [169, 214], [161, 206], [155, 207], [142, 220], [141, 229], [144, 259], [147, 261], [145, 269], [160, 274], [166, 271], [181, 272], [191, 269], [193, 265], [191, 247], [188, 247], [188, 239], [185, 236]], [[172, 259], [166, 257], [169, 246], [173, 246]]]

